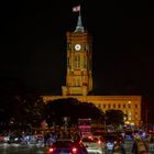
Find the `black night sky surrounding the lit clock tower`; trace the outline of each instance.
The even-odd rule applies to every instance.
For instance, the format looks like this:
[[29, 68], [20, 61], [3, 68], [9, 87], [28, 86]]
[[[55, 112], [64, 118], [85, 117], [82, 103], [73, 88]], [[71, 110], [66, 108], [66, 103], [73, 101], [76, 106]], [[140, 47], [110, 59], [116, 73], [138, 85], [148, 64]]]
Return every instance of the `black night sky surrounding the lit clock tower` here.
[[138, 89], [154, 96], [152, 1], [56, 0], [0, 3], [0, 78], [42, 92], [61, 91], [66, 74], [66, 31], [82, 24], [94, 37], [94, 89]]

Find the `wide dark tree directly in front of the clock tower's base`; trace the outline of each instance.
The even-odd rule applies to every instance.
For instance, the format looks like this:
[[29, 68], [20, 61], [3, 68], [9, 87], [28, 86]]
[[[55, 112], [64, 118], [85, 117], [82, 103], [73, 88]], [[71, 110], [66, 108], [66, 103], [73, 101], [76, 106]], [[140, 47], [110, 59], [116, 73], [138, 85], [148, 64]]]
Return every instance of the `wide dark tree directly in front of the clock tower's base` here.
[[56, 99], [46, 105], [47, 123], [62, 125], [63, 118], [68, 117], [70, 124], [77, 124], [79, 118], [102, 119], [103, 112], [90, 102], [80, 102], [74, 98]]

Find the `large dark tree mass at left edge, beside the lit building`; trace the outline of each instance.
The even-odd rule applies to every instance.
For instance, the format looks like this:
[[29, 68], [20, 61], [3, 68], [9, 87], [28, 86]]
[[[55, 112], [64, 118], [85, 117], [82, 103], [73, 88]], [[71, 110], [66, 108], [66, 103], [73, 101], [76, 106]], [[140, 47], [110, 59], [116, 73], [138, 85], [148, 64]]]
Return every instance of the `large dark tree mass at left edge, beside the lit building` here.
[[10, 122], [40, 125], [45, 103], [38, 91], [16, 78], [1, 78], [0, 85], [0, 128]]

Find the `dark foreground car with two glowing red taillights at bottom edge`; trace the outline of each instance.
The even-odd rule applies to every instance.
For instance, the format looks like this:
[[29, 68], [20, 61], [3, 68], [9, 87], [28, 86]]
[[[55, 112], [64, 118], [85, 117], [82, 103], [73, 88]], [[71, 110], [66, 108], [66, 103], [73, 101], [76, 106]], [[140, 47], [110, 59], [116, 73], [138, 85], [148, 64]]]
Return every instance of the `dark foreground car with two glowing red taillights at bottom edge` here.
[[57, 140], [48, 147], [48, 154], [88, 154], [81, 142], [70, 139]]

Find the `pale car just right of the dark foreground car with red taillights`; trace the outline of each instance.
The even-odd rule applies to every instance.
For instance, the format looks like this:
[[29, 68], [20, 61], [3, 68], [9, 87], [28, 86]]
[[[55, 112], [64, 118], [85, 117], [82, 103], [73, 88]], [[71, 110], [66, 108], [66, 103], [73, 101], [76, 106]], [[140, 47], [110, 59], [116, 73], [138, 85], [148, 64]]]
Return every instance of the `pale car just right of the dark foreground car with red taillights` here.
[[81, 142], [86, 146], [88, 153], [105, 153], [105, 143], [98, 138], [82, 138]]

